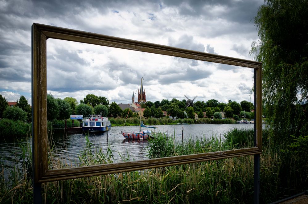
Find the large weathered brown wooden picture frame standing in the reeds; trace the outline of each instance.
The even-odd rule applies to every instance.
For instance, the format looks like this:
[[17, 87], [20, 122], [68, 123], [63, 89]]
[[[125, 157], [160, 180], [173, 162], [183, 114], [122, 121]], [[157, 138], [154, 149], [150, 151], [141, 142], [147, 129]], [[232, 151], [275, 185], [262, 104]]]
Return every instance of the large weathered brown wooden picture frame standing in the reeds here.
[[[219, 152], [165, 157], [141, 161], [129, 161], [114, 164], [74, 167], [67, 169], [48, 169], [47, 165], [47, 66], [46, 41], [48, 38], [116, 47], [134, 51], [169, 55], [187, 59], [223, 63], [255, 70], [255, 134], [256, 145], [253, 148], [235, 149]], [[191, 51], [153, 43], [140, 42], [100, 35], [84, 31], [53, 27], [33, 23], [32, 25], [32, 143], [34, 183], [59, 181], [79, 177], [97, 176], [141, 169], [150, 169], [171, 165], [210, 161], [246, 155], [259, 155], [262, 150], [262, 110], [261, 110], [261, 69], [260, 62], [237, 59], [204, 52]]]

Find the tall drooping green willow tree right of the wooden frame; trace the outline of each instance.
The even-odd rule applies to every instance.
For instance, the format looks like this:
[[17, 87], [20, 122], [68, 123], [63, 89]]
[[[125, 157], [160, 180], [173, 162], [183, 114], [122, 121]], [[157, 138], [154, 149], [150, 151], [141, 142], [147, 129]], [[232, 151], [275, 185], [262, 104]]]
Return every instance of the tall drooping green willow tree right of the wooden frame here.
[[308, 1], [265, 2], [254, 18], [259, 42], [251, 50], [263, 63], [263, 113], [277, 137], [306, 135]]

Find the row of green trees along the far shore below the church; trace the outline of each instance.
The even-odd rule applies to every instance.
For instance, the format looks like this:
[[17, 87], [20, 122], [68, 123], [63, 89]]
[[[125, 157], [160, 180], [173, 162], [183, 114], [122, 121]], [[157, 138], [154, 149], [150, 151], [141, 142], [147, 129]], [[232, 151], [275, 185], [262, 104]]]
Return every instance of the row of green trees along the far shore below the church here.
[[[225, 116], [238, 120], [239, 117], [253, 118], [251, 110], [253, 104], [243, 100], [239, 103], [229, 100], [228, 104], [220, 103], [218, 100], [211, 99], [197, 101], [193, 106], [186, 108], [186, 100], [162, 99], [162, 101], [147, 101], [141, 104], [143, 116], [146, 118], [163, 117], [163, 111], [167, 112], [168, 116], [173, 118], [195, 118], [195, 113], [199, 118], [203, 118], [203, 112], [206, 112], [207, 117], [222, 118], [220, 112], [224, 111]], [[5, 97], [0, 95], [0, 117], [12, 120], [31, 121], [31, 106], [24, 96], [21, 96], [17, 101], [16, 107], [8, 107]], [[185, 112], [186, 114], [185, 114]], [[54, 98], [50, 93], [47, 94], [47, 120], [64, 120], [70, 117], [71, 114], [84, 115], [85, 117], [91, 114], [100, 114], [103, 117], [138, 117], [136, 112], [132, 112], [129, 108], [122, 110], [116, 102], [109, 104], [109, 100], [103, 96], [88, 94], [80, 103], [73, 97], [65, 97], [64, 99]]]

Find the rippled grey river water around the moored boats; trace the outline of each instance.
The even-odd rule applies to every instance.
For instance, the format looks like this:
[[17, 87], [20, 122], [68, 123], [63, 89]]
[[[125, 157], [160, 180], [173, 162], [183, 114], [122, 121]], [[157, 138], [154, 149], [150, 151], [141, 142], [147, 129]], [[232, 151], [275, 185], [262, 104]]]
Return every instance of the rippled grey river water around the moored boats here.
[[[183, 125], [155, 125], [155, 132], [165, 133], [169, 131], [175, 136], [175, 142], [182, 142], [182, 128], [184, 140], [198, 137], [220, 137], [224, 138], [224, 133], [234, 128], [253, 129], [254, 124], [183, 124]], [[127, 140], [120, 134], [121, 130], [132, 132], [139, 130], [139, 126], [116, 126], [112, 127], [107, 133], [88, 135], [93, 149], [101, 148], [104, 153], [110, 148], [113, 153], [114, 162], [121, 162], [123, 158], [129, 160], [142, 160], [147, 158], [147, 149], [149, 145], [147, 140], [136, 141]], [[173, 138], [173, 137], [172, 137]], [[170, 138], [171, 139], [171, 138]], [[84, 134], [53, 134], [55, 144], [53, 152], [62, 161], [74, 164], [78, 161], [78, 155], [85, 148], [86, 140]], [[18, 143], [31, 144], [31, 138], [19, 138], [18, 140], [0, 142], [0, 172], [9, 171], [9, 169], [18, 163], [21, 157], [22, 149]]]

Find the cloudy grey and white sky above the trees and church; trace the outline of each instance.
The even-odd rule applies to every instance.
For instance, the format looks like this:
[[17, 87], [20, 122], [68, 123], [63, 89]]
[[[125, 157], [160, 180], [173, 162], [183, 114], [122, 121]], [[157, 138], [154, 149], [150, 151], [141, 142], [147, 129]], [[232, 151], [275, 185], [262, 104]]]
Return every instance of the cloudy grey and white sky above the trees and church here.
[[[263, 0], [0, 0], [0, 94], [31, 104], [31, 26], [35, 23], [254, 60], [253, 18]], [[253, 102], [253, 69], [47, 40], [47, 92], [130, 103], [140, 79], [147, 101]], [[136, 96], [137, 98], [137, 96]]]

